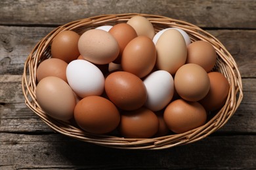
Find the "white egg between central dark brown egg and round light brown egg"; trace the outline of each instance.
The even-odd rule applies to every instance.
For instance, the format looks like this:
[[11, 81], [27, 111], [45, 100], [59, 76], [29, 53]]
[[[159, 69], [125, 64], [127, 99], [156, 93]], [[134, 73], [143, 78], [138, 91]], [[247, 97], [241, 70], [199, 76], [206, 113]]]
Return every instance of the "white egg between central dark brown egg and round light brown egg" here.
[[158, 111], [163, 109], [173, 98], [174, 82], [173, 76], [167, 71], [154, 71], [144, 79], [147, 100], [145, 106]]

